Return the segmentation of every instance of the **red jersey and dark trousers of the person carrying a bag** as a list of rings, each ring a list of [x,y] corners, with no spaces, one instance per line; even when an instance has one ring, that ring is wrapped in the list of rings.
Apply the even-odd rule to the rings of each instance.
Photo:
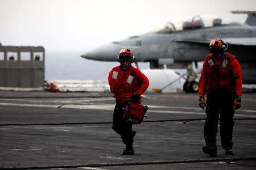
[[[109,86],[113,97],[116,99],[116,105],[113,114],[112,128],[121,135],[123,143],[131,148],[135,131],[132,130],[132,124],[123,121],[124,109],[132,99],[133,94],[141,95],[146,91],[149,81],[139,69],[131,66],[123,71],[120,66],[114,67],[109,72]]]

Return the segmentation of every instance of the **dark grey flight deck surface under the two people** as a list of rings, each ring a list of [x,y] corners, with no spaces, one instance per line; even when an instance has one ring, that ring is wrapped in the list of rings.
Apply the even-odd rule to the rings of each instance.
[[[201,151],[205,113],[197,94],[146,93],[148,118],[122,155],[112,130],[115,100],[106,93],[0,91],[0,169],[255,169],[256,94],[234,116],[234,155]]]

